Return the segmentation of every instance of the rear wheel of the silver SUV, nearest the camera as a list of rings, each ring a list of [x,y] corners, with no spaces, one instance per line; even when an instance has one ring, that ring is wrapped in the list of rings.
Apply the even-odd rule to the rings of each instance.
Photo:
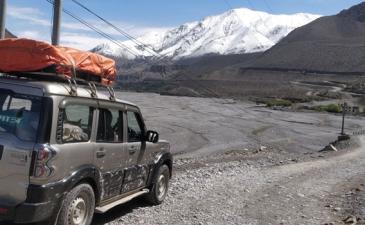
[[[55,225],[90,225],[94,210],[93,188],[89,184],[80,184],[65,196]]]

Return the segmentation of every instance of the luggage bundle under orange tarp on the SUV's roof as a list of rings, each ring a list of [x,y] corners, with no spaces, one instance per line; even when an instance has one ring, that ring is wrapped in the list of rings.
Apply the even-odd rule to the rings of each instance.
[[[92,52],[31,39],[0,40],[0,72],[49,79],[81,79],[106,86],[116,77],[115,61]]]

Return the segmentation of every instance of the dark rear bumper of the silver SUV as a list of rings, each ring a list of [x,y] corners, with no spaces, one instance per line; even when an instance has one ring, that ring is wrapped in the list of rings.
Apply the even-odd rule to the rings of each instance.
[[[0,208],[7,209],[7,213],[0,214],[0,224],[4,222],[12,223],[35,223],[49,219],[56,208],[52,202],[45,203],[23,203],[15,208]]]

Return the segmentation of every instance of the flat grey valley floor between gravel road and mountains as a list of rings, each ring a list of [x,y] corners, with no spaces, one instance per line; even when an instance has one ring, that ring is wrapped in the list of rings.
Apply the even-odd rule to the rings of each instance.
[[[177,158],[261,146],[295,154],[317,152],[340,133],[342,116],[271,110],[252,102],[119,92],[141,107],[147,128],[171,143]],[[348,116],[346,132],[365,129],[365,117]]]

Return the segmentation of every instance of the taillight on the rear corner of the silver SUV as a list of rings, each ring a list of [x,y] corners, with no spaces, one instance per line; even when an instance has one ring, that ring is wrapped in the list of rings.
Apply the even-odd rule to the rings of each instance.
[[[53,168],[48,166],[48,162],[56,155],[56,151],[49,145],[39,145],[35,149],[33,177],[46,178],[52,174]]]

